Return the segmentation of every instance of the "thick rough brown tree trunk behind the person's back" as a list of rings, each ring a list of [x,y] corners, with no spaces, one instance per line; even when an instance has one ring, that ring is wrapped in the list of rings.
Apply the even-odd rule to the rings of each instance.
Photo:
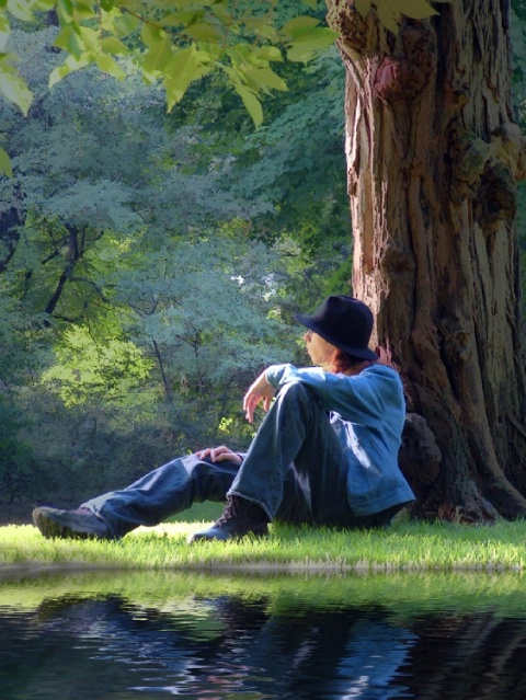
[[[526,377],[510,9],[436,7],[395,36],[374,11],[328,0],[347,73],[354,294],[436,443],[432,462],[425,445],[405,449],[416,513],[514,518],[526,515]]]

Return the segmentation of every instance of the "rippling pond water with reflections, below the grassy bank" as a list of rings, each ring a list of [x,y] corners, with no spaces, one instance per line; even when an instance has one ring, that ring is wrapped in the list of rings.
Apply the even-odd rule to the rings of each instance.
[[[524,700],[522,576],[0,578],[1,700]]]

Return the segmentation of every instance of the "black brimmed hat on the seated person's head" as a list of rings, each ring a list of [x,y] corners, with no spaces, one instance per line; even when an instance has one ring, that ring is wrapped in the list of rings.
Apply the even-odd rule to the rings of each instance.
[[[373,331],[373,312],[363,301],[346,295],[336,295],[328,297],[312,315],[298,313],[295,318],[328,343],[353,357],[378,359],[378,355],[368,347]]]

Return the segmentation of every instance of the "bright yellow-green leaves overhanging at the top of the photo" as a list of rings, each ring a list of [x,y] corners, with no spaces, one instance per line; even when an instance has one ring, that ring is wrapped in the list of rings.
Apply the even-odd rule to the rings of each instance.
[[[302,4],[319,11],[323,3]],[[354,7],[364,15],[375,10],[393,32],[402,14],[436,14],[430,0],[354,0]],[[278,9],[279,0],[266,0],[263,7],[228,0],[0,0],[0,93],[27,114],[32,92],[16,71],[16,55],[5,50],[10,20],[38,24],[43,13],[53,13],[60,27],[55,46],[66,58],[52,71],[49,88],[90,65],[122,80],[122,59],[128,58],[139,65],[147,82],[162,82],[170,112],[192,83],[221,72],[260,126],[263,95],[287,90],[272,65],[285,59],[307,64],[338,36],[316,16],[300,12],[282,23]],[[11,175],[1,148],[0,172]]]

